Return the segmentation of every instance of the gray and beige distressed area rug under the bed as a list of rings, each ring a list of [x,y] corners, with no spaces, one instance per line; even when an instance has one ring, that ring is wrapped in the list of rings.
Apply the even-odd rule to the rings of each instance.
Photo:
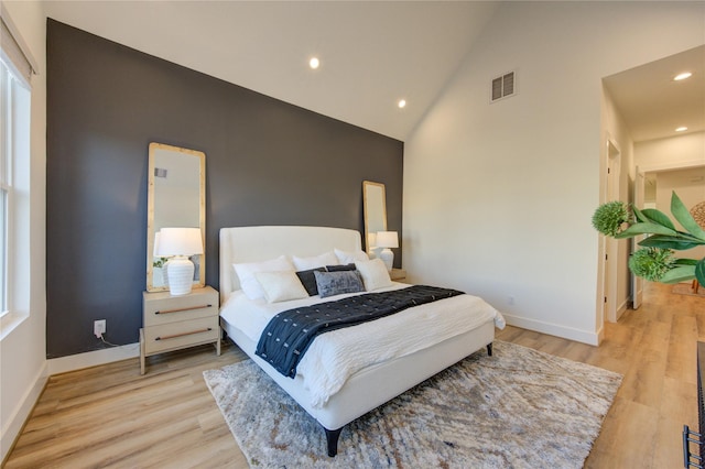
[[[582,468],[621,375],[496,341],[346,425],[321,425],[251,360],[204,372],[254,468]]]

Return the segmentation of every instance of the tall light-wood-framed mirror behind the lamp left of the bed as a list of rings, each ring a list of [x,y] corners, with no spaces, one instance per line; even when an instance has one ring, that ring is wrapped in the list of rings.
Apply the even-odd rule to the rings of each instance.
[[[147,209],[147,290],[169,290],[166,258],[154,257],[162,228],[200,228],[206,238],[206,154],[150,143]],[[193,255],[194,286],[206,284],[206,254]]]

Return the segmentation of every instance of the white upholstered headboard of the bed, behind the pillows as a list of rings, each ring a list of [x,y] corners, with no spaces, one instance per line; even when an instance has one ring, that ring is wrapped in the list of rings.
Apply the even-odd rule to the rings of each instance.
[[[281,254],[312,257],[335,248],[362,249],[359,231],[283,226],[220,228],[220,304],[240,288],[234,263],[265,261]]]

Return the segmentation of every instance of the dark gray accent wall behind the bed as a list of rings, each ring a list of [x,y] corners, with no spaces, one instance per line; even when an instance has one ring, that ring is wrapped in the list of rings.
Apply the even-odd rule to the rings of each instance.
[[[96,319],[107,319],[112,343],[138,341],[150,142],[206,154],[215,287],[220,228],[362,231],[364,179],[386,184],[389,229],[401,231],[403,142],[50,19],[47,358],[104,348]]]

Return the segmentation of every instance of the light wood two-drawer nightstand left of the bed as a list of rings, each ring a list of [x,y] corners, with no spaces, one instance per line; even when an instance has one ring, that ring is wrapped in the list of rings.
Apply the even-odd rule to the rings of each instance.
[[[156,353],[215,342],[220,355],[218,299],[218,292],[210,286],[181,296],[142,293],[140,373],[144,374],[144,359]]]

